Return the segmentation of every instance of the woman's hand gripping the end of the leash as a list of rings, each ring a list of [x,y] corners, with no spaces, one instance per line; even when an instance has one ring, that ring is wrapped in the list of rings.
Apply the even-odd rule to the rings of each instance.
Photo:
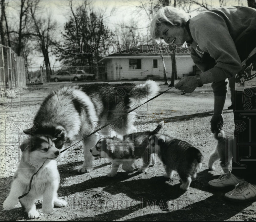
[[[198,86],[196,76],[185,76],[175,84],[175,88],[185,93],[192,93]]]

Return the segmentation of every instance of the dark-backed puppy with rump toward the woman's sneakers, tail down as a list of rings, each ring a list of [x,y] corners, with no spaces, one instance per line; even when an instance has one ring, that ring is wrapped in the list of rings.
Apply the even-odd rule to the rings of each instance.
[[[148,153],[157,153],[165,165],[165,177],[171,178],[176,171],[181,179],[180,188],[188,190],[192,179],[196,178],[197,168],[201,169],[202,153],[189,143],[174,139],[166,134],[157,134],[150,138]]]

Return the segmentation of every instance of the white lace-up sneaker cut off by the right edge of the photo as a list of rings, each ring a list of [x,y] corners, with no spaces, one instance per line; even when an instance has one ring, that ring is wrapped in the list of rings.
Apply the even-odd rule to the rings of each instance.
[[[256,184],[240,182],[234,190],[225,194],[225,198],[231,201],[256,201]]]

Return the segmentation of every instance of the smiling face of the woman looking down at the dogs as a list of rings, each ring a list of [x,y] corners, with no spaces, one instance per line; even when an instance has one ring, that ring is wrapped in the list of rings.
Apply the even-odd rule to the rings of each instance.
[[[188,32],[185,27],[173,26],[161,23],[158,27],[159,38],[163,39],[167,44],[183,44],[185,41],[190,40]]]

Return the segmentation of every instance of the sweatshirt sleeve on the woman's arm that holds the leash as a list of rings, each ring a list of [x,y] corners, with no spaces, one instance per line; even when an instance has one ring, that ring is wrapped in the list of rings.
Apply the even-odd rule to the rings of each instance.
[[[199,48],[208,52],[216,62],[208,70],[215,82],[235,76],[242,69],[235,43],[222,17],[212,13],[199,18],[191,24],[190,31]]]

